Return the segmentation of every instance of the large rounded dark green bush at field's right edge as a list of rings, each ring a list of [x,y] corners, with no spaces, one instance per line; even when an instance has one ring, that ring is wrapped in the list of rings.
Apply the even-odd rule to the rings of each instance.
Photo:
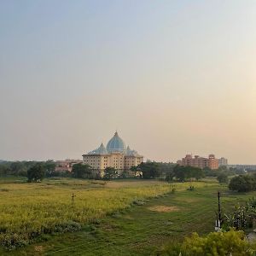
[[[239,175],[232,177],[229,184],[230,190],[235,190],[237,192],[247,192],[255,188],[255,182],[253,177],[249,175]]]

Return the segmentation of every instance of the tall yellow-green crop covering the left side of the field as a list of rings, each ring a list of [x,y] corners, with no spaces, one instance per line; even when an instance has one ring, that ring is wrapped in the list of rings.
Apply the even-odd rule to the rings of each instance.
[[[175,185],[177,191],[188,187],[189,183]],[[168,183],[158,181],[104,183],[60,179],[0,184],[0,242],[11,239],[14,234],[16,239],[28,241],[31,234],[50,233],[56,225],[68,221],[85,224],[108,212],[130,207],[134,200],[165,194],[170,188]]]

